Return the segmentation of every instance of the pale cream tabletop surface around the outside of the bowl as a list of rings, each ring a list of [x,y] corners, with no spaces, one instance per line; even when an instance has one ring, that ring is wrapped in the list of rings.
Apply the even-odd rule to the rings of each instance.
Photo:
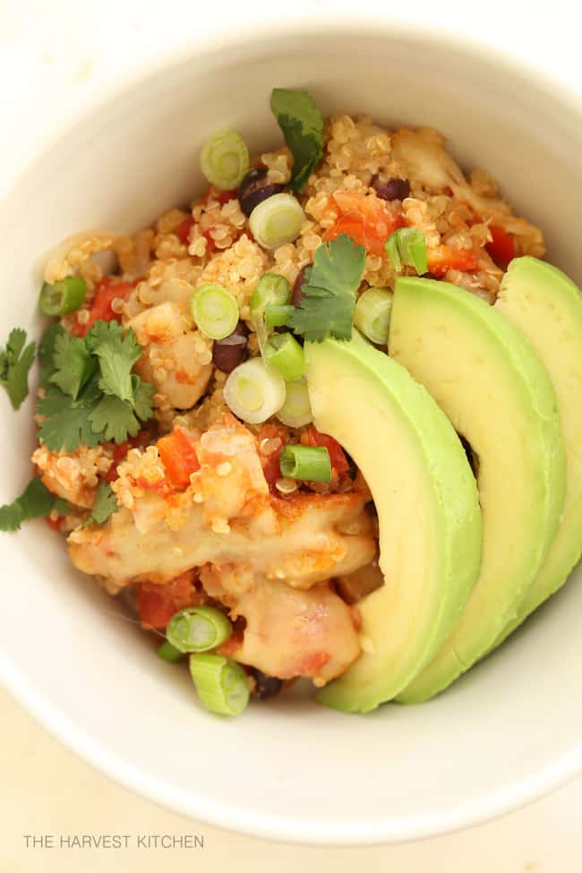
[[[204,4],[207,5],[207,4]],[[441,30],[460,30],[492,47],[512,50],[567,83],[582,81],[578,29],[564,3],[532,11],[529,4],[359,2],[358,13],[390,13],[422,20]],[[344,0],[297,0],[285,10],[274,4],[50,3],[0,0],[0,193],[26,167],[39,142],[50,141],[75,114],[98,101],[125,76],[170,57],[218,28],[245,26],[268,15],[354,14]],[[396,11],[398,10],[398,12]],[[580,85],[582,88],[582,85]],[[13,871],[160,869],[279,870],[370,869],[398,873],[578,873],[582,869],[582,781],[529,809],[457,834],[415,845],[368,850],[325,850],[261,843],[187,822],[147,801],[133,798],[47,737],[12,700],[0,693],[3,783],[0,870]],[[532,726],[535,730],[535,725]],[[107,852],[26,850],[23,834],[202,834],[205,849]]]

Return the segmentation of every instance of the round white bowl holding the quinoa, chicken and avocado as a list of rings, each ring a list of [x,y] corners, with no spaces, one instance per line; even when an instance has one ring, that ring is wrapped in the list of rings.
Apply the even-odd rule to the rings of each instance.
[[[491,50],[353,22],[297,25],[196,47],[82,117],[0,205],[0,337],[39,330],[43,256],[87,227],[129,230],[201,190],[205,136],[235,127],[279,141],[273,86],[308,88],[326,112],[428,124],[483,166],[543,227],[551,261],[580,280],[582,107]],[[0,502],[30,475],[30,399],[4,392]],[[432,703],[339,715],[302,698],[214,717],[185,672],[42,523],[2,535],[0,675],[47,728],[107,775],[192,817],[304,843],[416,839],[499,815],[582,766],[582,587],[572,583],[501,651]]]

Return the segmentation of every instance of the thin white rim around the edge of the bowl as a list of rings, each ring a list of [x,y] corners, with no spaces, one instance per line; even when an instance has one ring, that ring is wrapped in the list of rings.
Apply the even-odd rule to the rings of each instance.
[[[460,34],[445,30],[444,27],[426,27],[422,23],[398,21],[389,15],[378,18],[377,14],[362,14],[358,17],[345,13],[334,13],[333,21],[327,12],[314,11],[309,19],[297,20],[289,16],[278,19],[278,26],[284,30],[286,39],[296,39],[308,34],[378,37],[382,33],[393,39],[424,40],[439,44],[443,48],[465,53],[466,56],[479,56],[493,67],[509,74],[517,74],[530,81],[540,90],[545,90],[569,108],[575,115],[582,116],[582,89],[575,84],[563,81],[551,69],[540,68],[530,59],[513,54],[507,48],[492,46],[491,42],[475,35]],[[74,118],[67,118],[56,126],[46,141],[41,141],[36,157],[31,158],[15,175],[14,182],[5,193],[6,197],[18,188],[21,181],[37,165],[42,154],[55,147],[63,137],[82,123],[87,116],[97,113],[102,107],[115,100],[119,94],[131,91],[140,81],[152,78],[160,71],[177,68],[193,56],[203,58],[218,51],[241,49],[272,39],[272,22],[269,19],[257,23],[252,21],[229,32],[212,32],[203,36],[203,42],[190,39],[177,51],[160,51],[153,59],[143,57],[132,64],[131,69],[116,81],[107,84],[97,98],[91,99]],[[74,754],[90,763],[98,771],[107,775],[124,788],[140,794],[176,813],[191,817],[202,823],[218,826],[241,834],[250,834],[268,840],[304,843],[312,845],[349,846],[376,845],[382,843],[405,843],[475,826],[486,820],[500,817],[514,809],[541,798],[562,784],[582,773],[582,743],[551,760],[535,773],[500,789],[475,797],[447,812],[426,812],[422,815],[398,818],[374,819],[368,823],[346,824],[335,822],[332,818],[317,821],[289,819],[281,816],[249,813],[242,806],[216,803],[195,797],[178,790],[171,783],[148,774],[137,766],[128,764],[106,746],[94,740],[86,731],[78,727],[45,698],[41,689],[26,680],[12,659],[0,650],[0,681],[24,709],[40,723],[47,732],[56,737]]]

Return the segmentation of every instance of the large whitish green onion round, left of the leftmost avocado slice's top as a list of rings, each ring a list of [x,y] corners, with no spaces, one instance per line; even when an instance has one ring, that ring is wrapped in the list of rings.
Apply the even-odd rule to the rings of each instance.
[[[239,364],[228,376],[224,398],[234,414],[247,424],[261,424],[285,402],[285,381],[260,357]]]

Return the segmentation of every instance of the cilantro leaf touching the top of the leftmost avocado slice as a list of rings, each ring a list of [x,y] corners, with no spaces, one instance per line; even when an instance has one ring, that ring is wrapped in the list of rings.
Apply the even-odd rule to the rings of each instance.
[[[305,274],[304,298],[287,324],[312,342],[328,334],[336,339],[352,336],[355,292],[364,273],[365,249],[346,234],[315,251],[313,266]]]

